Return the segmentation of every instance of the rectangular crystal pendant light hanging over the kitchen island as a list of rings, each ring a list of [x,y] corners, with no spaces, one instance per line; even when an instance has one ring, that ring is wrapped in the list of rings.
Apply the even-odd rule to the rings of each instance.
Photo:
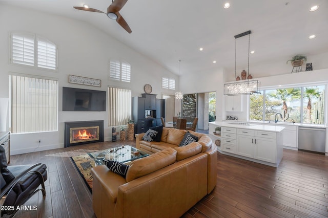
[[[252,95],[260,94],[260,81],[249,80],[250,75],[250,35],[251,31],[243,32],[235,35],[235,81],[224,83],[224,95]],[[248,74],[247,81],[236,81],[236,67],[237,67],[237,38],[248,35]]]

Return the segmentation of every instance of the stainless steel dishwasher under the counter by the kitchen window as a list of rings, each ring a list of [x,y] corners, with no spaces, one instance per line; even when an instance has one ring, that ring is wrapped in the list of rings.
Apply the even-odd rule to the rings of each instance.
[[[298,127],[298,149],[323,153],[326,147],[326,129]]]

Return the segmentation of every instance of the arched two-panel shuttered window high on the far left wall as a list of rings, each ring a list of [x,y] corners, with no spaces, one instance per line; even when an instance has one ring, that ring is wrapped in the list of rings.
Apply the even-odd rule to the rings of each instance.
[[[13,33],[11,34],[11,63],[55,70],[57,69],[56,45],[34,34]]]

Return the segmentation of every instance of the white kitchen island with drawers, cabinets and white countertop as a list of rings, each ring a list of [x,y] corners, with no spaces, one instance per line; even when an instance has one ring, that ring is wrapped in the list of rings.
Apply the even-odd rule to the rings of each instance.
[[[221,133],[215,132],[221,127]],[[277,167],[282,159],[283,126],[210,122],[209,136],[225,155]]]

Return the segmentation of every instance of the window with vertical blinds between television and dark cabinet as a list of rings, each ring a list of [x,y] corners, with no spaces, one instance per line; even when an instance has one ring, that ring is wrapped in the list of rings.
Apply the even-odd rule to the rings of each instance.
[[[131,119],[131,90],[108,88],[108,126],[126,125]]]

